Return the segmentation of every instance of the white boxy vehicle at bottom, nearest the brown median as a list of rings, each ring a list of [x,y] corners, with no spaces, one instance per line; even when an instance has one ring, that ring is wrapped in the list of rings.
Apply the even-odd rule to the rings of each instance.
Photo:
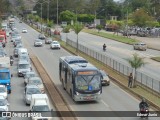
[[[42,114],[36,114],[36,116],[32,116],[32,120],[39,120],[39,119],[45,119],[45,120],[53,120],[53,117],[51,115],[44,116],[46,114],[43,114],[43,112],[51,112],[51,106],[49,103],[49,98],[47,94],[32,94],[31,96],[31,104],[30,104],[30,112],[32,113],[38,113],[41,112]]]

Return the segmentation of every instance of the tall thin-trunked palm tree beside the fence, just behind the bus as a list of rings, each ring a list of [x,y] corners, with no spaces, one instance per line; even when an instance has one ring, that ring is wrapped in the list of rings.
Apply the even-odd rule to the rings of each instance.
[[[74,32],[77,34],[77,54],[78,54],[78,34],[84,28],[84,25],[80,24],[79,22],[76,22],[72,26],[72,28],[73,28]]]

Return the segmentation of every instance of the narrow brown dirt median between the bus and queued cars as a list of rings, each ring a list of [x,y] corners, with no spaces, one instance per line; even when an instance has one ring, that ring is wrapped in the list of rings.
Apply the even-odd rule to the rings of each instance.
[[[54,85],[52,79],[46,72],[45,68],[43,67],[39,59],[36,56],[32,55],[31,60],[40,77],[42,78],[44,86],[46,87],[52,100],[52,103],[54,104],[56,110],[59,112],[62,120],[76,120],[74,113],[70,110],[69,106],[67,106],[66,102],[64,101],[63,97],[59,93],[58,89]],[[67,116],[71,117],[64,117],[66,116],[64,111],[67,111]]]

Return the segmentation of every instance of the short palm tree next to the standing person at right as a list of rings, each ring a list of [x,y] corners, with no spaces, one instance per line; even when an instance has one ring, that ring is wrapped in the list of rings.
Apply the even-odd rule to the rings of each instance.
[[[144,62],[144,58],[141,58],[138,56],[138,54],[133,54],[133,57],[126,59],[128,63],[133,68],[134,79],[133,79],[133,87],[136,87],[136,75],[137,75],[137,69],[141,68],[146,63]]]

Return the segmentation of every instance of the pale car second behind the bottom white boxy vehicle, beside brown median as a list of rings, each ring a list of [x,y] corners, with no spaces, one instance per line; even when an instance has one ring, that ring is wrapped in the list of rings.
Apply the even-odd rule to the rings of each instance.
[[[27,85],[37,85],[41,92],[44,93],[44,86],[40,77],[30,77]]]

